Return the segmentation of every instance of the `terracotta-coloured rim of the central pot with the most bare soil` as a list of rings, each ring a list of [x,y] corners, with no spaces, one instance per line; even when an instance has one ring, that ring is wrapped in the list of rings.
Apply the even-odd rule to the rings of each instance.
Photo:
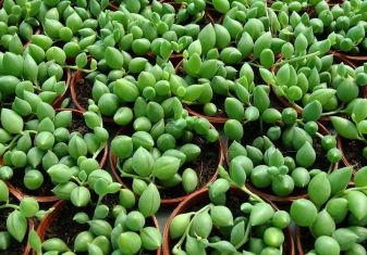
[[[119,136],[119,133],[121,133],[121,130],[117,133],[117,136]],[[220,139],[217,142],[217,148],[219,150],[219,152],[218,152],[218,167],[219,167],[224,162],[224,148],[223,148],[223,144],[220,141]],[[131,189],[131,187],[127,186],[126,182],[124,182],[123,178],[119,175],[119,170],[118,170],[118,168],[115,166],[117,165],[117,156],[112,153],[112,150],[110,150],[110,153],[109,153],[109,162],[110,162],[111,173],[112,173],[113,177],[115,178],[115,180],[118,182],[120,182],[123,188]],[[203,187],[198,188],[197,190],[204,189],[205,187],[207,187],[208,184],[210,184],[211,182],[213,182],[217,179],[217,177],[218,177],[218,167],[217,167],[216,173],[208,180],[208,182],[206,184],[204,184]],[[192,193],[189,193],[189,194],[192,194]],[[178,196],[178,197],[172,197],[172,199],[162,199],[161,200],[161,205],[162,206],[176,205],[181,201],[183,201],[185,197],[187,197],[189,194]]]

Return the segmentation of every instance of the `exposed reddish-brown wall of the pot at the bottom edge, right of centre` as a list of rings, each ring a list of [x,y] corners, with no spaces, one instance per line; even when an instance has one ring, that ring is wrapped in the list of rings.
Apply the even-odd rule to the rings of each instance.
[[[246,202],[248,200],[248,195],[244,193],[242,190],[237,188],[231,188],[230,196],[237,196],[243,197],[243,202]],[[261,196],[261,194],[260,194]],[[267,203],[269,203],[276,211],[278,211],[278,207],[272,204],[270,201],[268,201],[266,197],[264,199]],[[170,239],[170,226],[173,220],[173,218],[180,214],[183,214],[185,212],[188,212],[191,208],[195,206],[206,205],[209,203],[209,190],[208,188],[204,188],[201,190],[195,191],[194,193],[189,194],[182,203],[179,204],[179,206],[172,212],[170,218],[168,219],[164,231],[163,231],[163,255],[171,255],[171,248],[172,243]],[[291,227],[288,227],[283,230],[285,234],[285,243],[283,245],[283,254],[288,255],[294,255],[295,254],[295,247],[294,247],[294,241],[292,238],[292,229]]]

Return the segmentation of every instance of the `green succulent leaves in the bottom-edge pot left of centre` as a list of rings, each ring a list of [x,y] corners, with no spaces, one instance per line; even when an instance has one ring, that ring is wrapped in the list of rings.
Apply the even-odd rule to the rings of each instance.
[[[107,176],[106,176],[107,177]],[[109,177],[110,178],[110,177]],[[119,183],[110,182],[102,184],[99,179],[95,184],[95,194],[98,200],[91,201],[88,205],[91,214],[84,211],[75,213],[73,225],[86,225],[88,230],[78,232],[70,240],[62,240],[58,237],[40,242],[35,233],[29,234],[29,243],[37,254],[126,254],[133,255],[139,252],[156,251],[161,245],[161,234],[149,221],[151,216],[150,204],[140,200],[136,202],[134,194],[130,190],[120,189]],[[107,183],[107,182],[106,182]],[[151,192],[151,188],[147,188]],[[152,191],[154,192],[154,191]],[[118,204],[113,207],[105,204],[113,196],[119,197]],[[95,196],[94,196],[95,197]],[[137,205],[138,203],[138,209]],[[154,212],[152,212],[154,213]]]

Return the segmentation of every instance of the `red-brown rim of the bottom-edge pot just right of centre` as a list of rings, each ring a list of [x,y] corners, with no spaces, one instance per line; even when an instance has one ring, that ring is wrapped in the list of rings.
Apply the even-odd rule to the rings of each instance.
[[[247,196],[243,191],[241,191],[237,188],[231,188],[231,191],[238,193],[240,192],[242,194],[244,194],[245,196]],[[179,215],[182,214],[184,212],[186,212],[189,207],[192,207],[193,205],[197,204],[198,201],[203,201],[203,200],[209,200],[208,197],[208,188],[205,187],[204,189],[197,190],[194,193],[187,195],[187,197],[182,201],[178,207],[175,207],[175,209],[172,212],[172,214],[170,215],[169,219],[167,220],[167,224],[164,226],[164,230],[163,230],[163,247],[162,247],[162,252],[163,255],[171,255],[171,251],[170,251],[170,226],[171,222],[173,220],[173,218]],[[261,195],[260,195],[261,196]],[[269,203],[274,209],[279,211],[279,208],[271,203],[271,201],[267,200],[267,197],[261,197],[264,199],[267,203]],[[288,250],[289,250],[289,255],[295,255],[295,245],[294,245],[294,240],[292,237],[292,230],[290,227],[288,227],[285,230],[285,243],[288,244]],[[288,242],[286,242],[288,241]]]

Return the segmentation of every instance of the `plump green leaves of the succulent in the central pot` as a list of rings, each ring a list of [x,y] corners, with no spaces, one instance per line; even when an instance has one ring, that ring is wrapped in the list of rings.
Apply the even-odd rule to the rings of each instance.
[[[163,189],[181,184],[186,193],[199,188],[197,169],[189,167],[201,154],[199,145],[203,142],[197,144],[197,139],[205,143],[215,143],[219,139],[219,132],[206,118],[187,116],[179,100],[172,98],[171,101],[168,111],[161,112],[150,111],[154,109],[151,102],[143,104],[146,116],[135,119],[132,135],[117,136],[111,142],[111,152],[118,157],[117,168],[122,178],[133,178],[132,189],[137,195],[150,182]],[[175,103],[180,106],[175,107]],[[174,113],[176,109],[183,112],[179,117],[174,117],[179,113]],[[149,120],[154,120],[154,125]]]

